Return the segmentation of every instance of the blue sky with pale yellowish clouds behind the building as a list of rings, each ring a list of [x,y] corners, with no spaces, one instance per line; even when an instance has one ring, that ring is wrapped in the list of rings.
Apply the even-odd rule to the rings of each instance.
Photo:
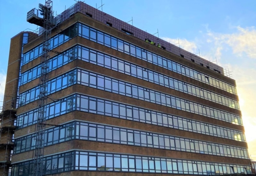
[[[101,6],[101,0],[85,0]],[[0,106],[10,38],[35,30],[27,12],[44,0],[0,0]],[[53,0],[60,14],[76,2]],[[226,68],[236,80],[249,154],[256,160],[256,1],[255,0],[102,0],[103,11]],[[131,22],[129,22],[131,24]],[[156,34],[157,35],[157,34]],[[199,54],[198,54],[199,55]]]

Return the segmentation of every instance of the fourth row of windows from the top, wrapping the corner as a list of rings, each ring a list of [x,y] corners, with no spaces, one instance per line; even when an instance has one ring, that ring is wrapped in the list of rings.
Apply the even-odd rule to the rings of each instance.
[[[77,95],[77,96],[80,97],[80,95]],[[65,99],[65,100],[70,101],[70,98]],[[47,113],[47,116],[46,116],[47,119],[56,117],[56,116],[60,115],[60,113],[64,114],[64,113],[67,113],[68,111],[73,110],[73,106],[70,106],[70,103],[66,103],[63,100],[60,100],[60,101],[62,102],[61,106],[60,106],[60,102],[54,102],[53,104],[49,104],[50,110],[47,110],[47,111],[50,114]],[[142,112],[141,110],[140,110],[140,113],[138,113],[138,108],[136,108],[136,107],[129,106],[129,108],[128,108],[127,106],[122,105],[122,104],[114,105],[112,102],[109,102],[109,101],[105,102],[104,100],[101,100],[98,98],[90,98],[88,96],[81,96],[81,98],[78,98],[77,101],[78,101],[77,105],[76,105],[77,110],[81,110],[81,111],[97,113],[97,114],[102,114],[102,115],[105,114],[108,116],[118,117],[118,118],[127,118],[127,119],[134,120],[134,121],[138,121],[138,120],[144,121],[145,116],[146,116],[146,123],[154,123],[154,124],[160,125],[160,126],[167,125],[168,127],[171,127],[171,128],[177,128],[177,129],[182,129],[182,130],[186,130],[186,131],[191,131],[192,129],[194,129],[194,132],[203,133],[203,134],[205,133],[206,127],[209,126],[209,129],[208,128],[207,129],[210,131],[210,133],[207,132],[208,133],[207,135],[218,136],[218,137],[222,137],[222,138],[226,138],[226,139],[234,140],[234,135],[228,135],[230,133],[230,131],[232,131],[232,133],[235,132],[236,134],[242,135],[242,133],[240,131],[234,131],[234,130],[223,129],[223,128],[221,128],[222,131],[226,130],[229,133],[224,133],[224,134],[223,133],[222,134],[215,133],[212,131],[212,125],[208,125],[208,124],[202,123],[202,122],[189,121],[189,124],[186,125],[187,120],[184,118],[180,118],[180,117],[179,117],[179,124],[178,124],[178,121],[177,121],[178,117],[175,117],[175,116],[168,117],[168,123],[169,123],[169,125],[168,125],[167,119],[165,120],[165,118],[164,118],[164,117],[167,117],[167,114],[156,113],[154,111],[148,111],[148,110],[144,110],[144,109],[141,109],[143,111],[143,113],[141,113]],[[90,105],[89,106],[90,110],[88,110],[88,101],[89,101],[89,105]],[[177,103],[176,101],[173,102],[173,104],[178,104],[180,106],[180,104]],[[55,106],[55,108],[54,108],[54,106]],[[119,108],[119,106],[120,106],[120,108]],[[70,108],[71,108],[71,110],[70,110]],[[62,111],[60,111],[60,109]],[[119,113],[119,109],[120,109],[120,113]],[[113,112],[112,112],[112,110],[113,110]],[[147,111],[147,112],[145,113],[145,111]],[[35,110],[32,112],[36,113]],[[29,112],[29,114],[30,113],[31,112]],[[36,123],[36,119],[32,119],[32,117],[33,117],[32,114],[29,115],[29,118],[28,118],[28,115],[26,115],[26,114],[27,113],[24,113],[24,114],[18,116],[19,128]],[[30,116],[31,116],[31,118],[30,118]],[[165,124],[163,124],[163,122],[165,122]],[[173,126],[173,124],[175,125],[175,127]],[[191,127],[192,124],[198,124],[198,129],[196,128],[196,125],[195,125],[195,127],[192,128]],[[200,126],[202,127],[202,129]],[[213,126],[213,127],[214,127],[215,131],[216,131],[216,128],[218,128],[218,129],[220,128],[217,126]],[[239,139],[235,139],[235,140],[241,141],[244,139],[239,138]],[[246,157],[247,157],[247,153],[246,153]]]

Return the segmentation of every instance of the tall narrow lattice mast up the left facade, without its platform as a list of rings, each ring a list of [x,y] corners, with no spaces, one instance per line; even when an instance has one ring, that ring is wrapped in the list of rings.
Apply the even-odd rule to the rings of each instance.
[[[36,125],[36,149],[34,156],[34,176],[42,176],[44,159],[44,134],[46,121],[48,61],[50,59],[50,37],[52,28],[52,1],[48,0],[42,6],[44,33],[41,58],[40,93],[38,100],[38,121]]]

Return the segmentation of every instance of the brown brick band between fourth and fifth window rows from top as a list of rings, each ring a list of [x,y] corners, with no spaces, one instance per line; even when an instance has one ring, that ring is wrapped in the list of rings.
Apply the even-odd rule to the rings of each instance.
[[[247,144],[244,142],[240,142],[240,141],[234,141],[234,140],[230,140],[230,139],[224,139],[224,138],[220,138],[220,137],[203,135],[200,133],[193,133],[190,131],[183,131],[183,130],[179,130],[179,129],[151,125],[148,123],[140,123],[140,122],[136,122],[136,121],[119,119],[119,118],[114,118],[114,117],[109,117],[109,116],[104,116],[104,115],[96,115],[93,113],[86,113],[86,112],[82,112],[82,111],[73,111],[73,112],[70,112],[70,113],[67,113],[64,115],[60,115],[58,117],[47,120],[46,123],[58,125],[58,124],[62,124],[62,123],[68,122],[68,121],[72,121],[72,120],[82,120],[82,121],[89,121],[89,122],[91,121],[94,123],[114,125],[114,126],[118,126],[118,127],[132,128],[132,129],[137,129],[137,130],[142,130],[142,131],[151,131],[153,133],[162,133],[162,134],[173,135],[173,136],[177,136],[177,137],[184,137],[184,138],[196,139],[196,140],[200,140],[200,141],[209,141],[209,142],[213,142],[213,143],[220,143],[220,144],[225,144],[225,145],[232,145],[232,146],[247,148]],[[33,132],[35,132],[34,130],[35,130],[35,125],[31,125],[31,126],[19,129],[15,133],[15,138],[19,138],[24,135],[33,133]]]

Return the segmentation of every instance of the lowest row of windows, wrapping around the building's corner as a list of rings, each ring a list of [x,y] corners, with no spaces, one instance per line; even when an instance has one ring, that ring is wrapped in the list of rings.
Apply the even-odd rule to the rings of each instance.
[[[65,164],[63,164],[63,158]],[[58,159],[57,159],[58,158]],[[76,158],[76,162],[73,162]],[[113,160],[114,158],[114,160]],[[106,160],[106,162],[105,162]],[[57,164],[58,161],[58,164]],[[234,172],[251,173],[250,166],[209,163],[171,158],[154,158],[120,154],[105,154],[74,151],[44,158],[46,170],[43,174],[61,173],[67,170],[97,170],[123,172],[162,172],[173,174],[230,174]],[[89,163],[89,167],[88,164]],[[12,176],[28,176],[33,173],[33,160],[13,164]],[[29,168],[23,170],[23,168]],[[227,169],[228,168],[228,169]]]

